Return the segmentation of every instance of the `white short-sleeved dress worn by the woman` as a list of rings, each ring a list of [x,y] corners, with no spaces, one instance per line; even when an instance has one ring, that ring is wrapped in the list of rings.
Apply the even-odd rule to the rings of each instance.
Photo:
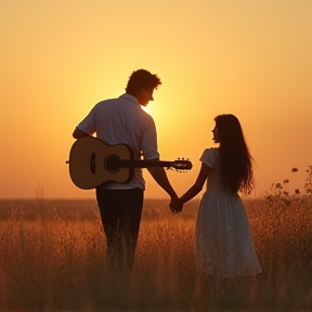
[[[205,150],[200,161],[213,170],[197,212],[196,269],[202,275],[221,277],[260,273],[244,204],[238,194],[222,190],[219,150]]]

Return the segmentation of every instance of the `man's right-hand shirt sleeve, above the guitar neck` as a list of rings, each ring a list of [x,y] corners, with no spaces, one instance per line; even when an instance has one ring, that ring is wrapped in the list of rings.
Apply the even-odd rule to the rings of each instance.
[[[153,118],[151,118],[147,122],[146,129],[142,138],[141,148],[144,159],[159,158],[157,146],[157,132]]]

